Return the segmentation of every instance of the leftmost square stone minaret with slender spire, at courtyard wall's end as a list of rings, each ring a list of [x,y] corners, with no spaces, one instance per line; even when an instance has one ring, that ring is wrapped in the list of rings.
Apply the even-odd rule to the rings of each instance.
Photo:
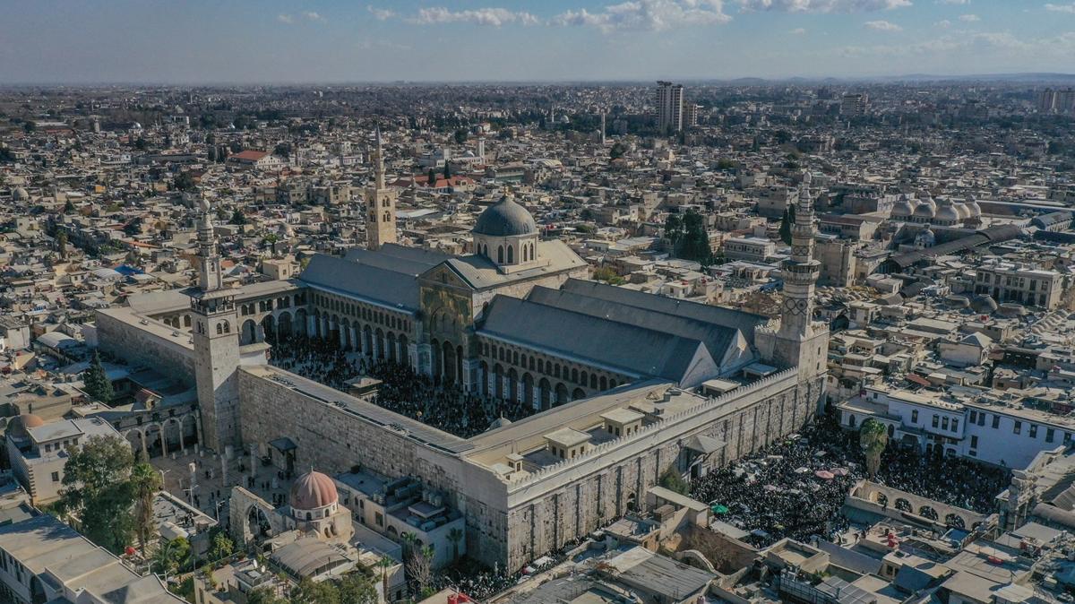
[[[194,312],[195,383],[201,411],[202,442],[217,452],[239,443],[239,317],[235,298],[223,289],[220,257],[209,202],[200,203],[198,263],[200,287],[190,297]]]

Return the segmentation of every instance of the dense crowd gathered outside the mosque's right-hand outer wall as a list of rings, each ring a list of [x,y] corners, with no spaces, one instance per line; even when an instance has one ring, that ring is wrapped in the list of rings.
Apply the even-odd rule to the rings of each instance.
[[[756,545],[812,535],[838,541],[849,527],[840,512],[844,499],[863,477],[857,435],[823,416],[801,434],[694,480],[691,497],[711,503],[717,519],[749,532],[745,540]],[[927,458],[890,443],[873,480],[988,513],[1008,475],[961,459]]]

